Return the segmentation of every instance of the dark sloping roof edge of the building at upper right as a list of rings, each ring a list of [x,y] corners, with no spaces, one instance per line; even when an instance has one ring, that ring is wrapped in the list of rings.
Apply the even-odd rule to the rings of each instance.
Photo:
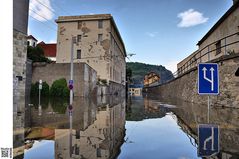
[[[220,25],[227,17],[231,15],[239,7],[239,1],[235,2],[232,7],[216,22],[216,24],[207,32],[207,34],[197,43],[201,45]]]

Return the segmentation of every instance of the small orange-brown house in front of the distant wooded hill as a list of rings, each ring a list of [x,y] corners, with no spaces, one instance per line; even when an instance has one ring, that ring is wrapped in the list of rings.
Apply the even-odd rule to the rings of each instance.
[[[160,84],[160,76],[155,72],[150,72],[144,76],[144,86],[156,86]]]

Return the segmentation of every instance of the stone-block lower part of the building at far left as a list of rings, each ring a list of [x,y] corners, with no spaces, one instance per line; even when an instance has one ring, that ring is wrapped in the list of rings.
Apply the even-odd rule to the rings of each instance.
[[[26,35],[13,30],[13,156],[24,152]]]

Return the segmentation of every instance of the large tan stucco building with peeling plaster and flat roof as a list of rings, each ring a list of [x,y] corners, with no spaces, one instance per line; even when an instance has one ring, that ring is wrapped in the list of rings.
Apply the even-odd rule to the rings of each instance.
[[[56,63],[69,63],[72,37],[74,62],[85,62],[99,79],[125,84],[126,50],[110,14],[60,16],[56,20]]]

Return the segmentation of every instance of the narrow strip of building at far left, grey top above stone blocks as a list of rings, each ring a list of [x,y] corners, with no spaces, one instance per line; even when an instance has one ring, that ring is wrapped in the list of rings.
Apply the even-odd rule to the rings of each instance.
[[[13,0],[13,157],[24,153],[29,0]]]

